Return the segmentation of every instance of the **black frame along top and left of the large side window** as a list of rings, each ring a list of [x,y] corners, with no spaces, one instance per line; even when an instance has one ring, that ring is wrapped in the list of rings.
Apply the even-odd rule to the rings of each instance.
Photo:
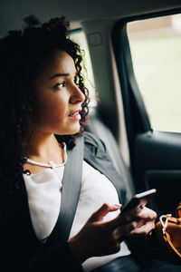
[[[141,21],[180,13],[181,8],[176,8],[147,15],[129,16],[121,18],[113,27],[112,44],[119,73],[130,155],[133,152],[134,142],[138,133],[153,131],[153,129],[151,128],[148,112],[133,70],[127,24],[138,20]]]

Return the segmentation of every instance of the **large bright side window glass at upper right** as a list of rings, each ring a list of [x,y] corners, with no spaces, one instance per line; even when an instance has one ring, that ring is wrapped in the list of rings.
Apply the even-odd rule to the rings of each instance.
[[[152,128],[181,132],[181,15],[131,22],[127,30]]]

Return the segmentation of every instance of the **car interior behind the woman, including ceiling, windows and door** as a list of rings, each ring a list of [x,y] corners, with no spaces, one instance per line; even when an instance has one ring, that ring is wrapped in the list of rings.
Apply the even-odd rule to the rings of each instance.
[[[181,2],[6,0],[0,5],[0,36],[62,15],[71,22],[71,38],[85,54],[86,130],[104,141],[128,199],[155,188],[150,207],[158,215],[174,215],[181,200]]]

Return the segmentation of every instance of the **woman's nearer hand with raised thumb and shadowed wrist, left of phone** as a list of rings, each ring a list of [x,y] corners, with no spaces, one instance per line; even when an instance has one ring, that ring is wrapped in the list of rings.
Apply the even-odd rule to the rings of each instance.
[[[82,263],[89,257],[105,256],[119,251],[119,242],[112,234],[112,230],[116,228],[113,228],[115,219],[103,222],[103,218],[120,207],[121,205],[103,204],[91,215],[81,231],[68,241],[71,252],[78,261]]]

